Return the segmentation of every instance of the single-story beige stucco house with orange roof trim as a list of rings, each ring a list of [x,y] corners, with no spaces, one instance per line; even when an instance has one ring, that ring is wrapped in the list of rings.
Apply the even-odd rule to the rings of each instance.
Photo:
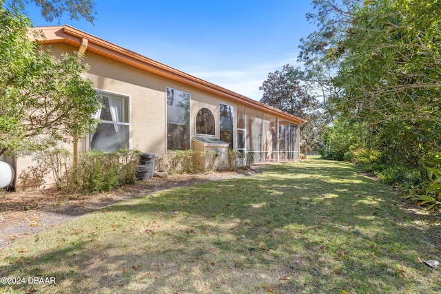
[[[299,126],[305,120],[158,63],[69,25],[36,28],[54,54],[85,54],[87,78],[105,107],[95,134],[68,148],[78,155],[91,149],[125,146],[163,156],[168,151],[207,148],[252,154],[254,162],[296,160]],[[14,158],[15,174],[36,165]],[[48,175],[45,187],[54,181]],[[16,189],[26,189],[18,176]]]

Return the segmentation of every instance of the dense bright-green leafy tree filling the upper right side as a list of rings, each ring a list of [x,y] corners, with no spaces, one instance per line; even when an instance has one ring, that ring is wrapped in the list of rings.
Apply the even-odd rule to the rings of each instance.
[[[366,1],[353,11],[334,83],[342,114],[365,120],[384,162],[422,166],[441,152],[439,1]]]

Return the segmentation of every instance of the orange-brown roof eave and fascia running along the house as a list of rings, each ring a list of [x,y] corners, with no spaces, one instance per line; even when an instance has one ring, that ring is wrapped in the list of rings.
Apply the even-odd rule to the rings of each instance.
[[[300,125],[306,123],[306,120],[302,118],[298,118],[297,116],[287,114],[286,112],[282,112],[274,107],[254,101],[251,98],[237,94],[236,92],[232,92],[218,85],[214,85],[202,80],[201,78],[196,78],[196,76],[192,76],[191,74],[176,70],[173,67],[164,65],[163,63],[149,59],[141,54],[122,48],[119,45],[115,45],[96,36],[73,28],[70,25],[37,27],[34,28],[34,30],[44,34],[45,38],[38,40],[42,44],[64,43],[72,45],[79,48],[79,52],[90,52],[104,56],[107,59],[119,61],[141,70],[145,70],[146,72],[152,72],[158,76],[170,78],[173,81],[196,87],[197,89],[205,92],[216,94],[220,97],[226,98],[229,101],[233,101],[246,107],[277,116],[278,118],[289,120],[292,123],[298,123]]]

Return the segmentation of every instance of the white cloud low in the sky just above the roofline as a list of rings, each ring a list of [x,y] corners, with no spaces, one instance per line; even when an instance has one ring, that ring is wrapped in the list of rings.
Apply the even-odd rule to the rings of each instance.
[[[272,63],[250,65],[243,70],[200,71],[189,72],[189,74],[256,101],[260,101],[263,92],[259,90],[259,87],[263,81],[267,79],[268,74],[276,70],[281,70],[283,65],[288,63],[298,66],[296,59],[291,58]]]

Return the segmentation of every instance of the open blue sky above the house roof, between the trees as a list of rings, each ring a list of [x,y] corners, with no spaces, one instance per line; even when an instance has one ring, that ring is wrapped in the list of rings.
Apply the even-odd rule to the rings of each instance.
[[[297,65],[300,38],[315,30],[310,0],[94,1],[94,25],[26,9],[35,26],[72,25],[257,101],[268,73]]]

